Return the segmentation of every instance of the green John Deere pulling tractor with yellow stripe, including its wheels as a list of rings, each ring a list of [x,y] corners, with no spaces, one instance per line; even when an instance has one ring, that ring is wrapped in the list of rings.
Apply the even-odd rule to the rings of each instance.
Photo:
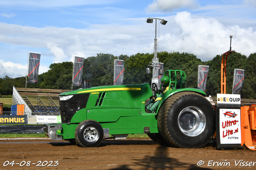
[[[101,86],[60,94],[62,123],[44,125],[52,140],[67,140],[81,147],[97,147],[110,135],[125,139],[128,134],[147,133],[157,143],[171,147],[198,148],[215,132],[215,111],[205,92],[185,88],[182,70],[166,70],[169,88],[158,107],[146,109],[156,84]]]

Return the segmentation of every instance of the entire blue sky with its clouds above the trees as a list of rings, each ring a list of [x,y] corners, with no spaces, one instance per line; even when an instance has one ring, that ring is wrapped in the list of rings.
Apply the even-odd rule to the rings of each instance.
[[[255,0],[0,0],[0,78],[26,75],[28,52],[41,53],[39,73],[52,63],[97,53],[193,53],[202,61],[232,48],[256,52]]]

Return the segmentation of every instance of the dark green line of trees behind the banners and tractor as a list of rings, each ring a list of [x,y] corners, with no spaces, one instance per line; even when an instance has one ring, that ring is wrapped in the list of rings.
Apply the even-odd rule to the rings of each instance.
[[[114,79],[114,60],[124,60],[124,82],[123,84],[143,84],[150,83],[152,75],[146,74],[146,67],[150,65],[154,54],[137,53],[135,55],[97,54],[96,57],[84,59],[83,77],[89,79],[91,87],[113,85]],[[201,61],[195,55],[190,53],[167,52],[158,53],[160,63],[164,63],[164,70],[183,70],[186,73],[186,87],[197,88],[198,65],[210,66],[206,94],[216,96],[220,93],[220,75],[222,55],[216,55],[210,61]],[[256,98],[256,53],[248,57],[241,53],[232,53],[228,56],[226,62],[226,93],[232,94],[232,83],[234,69],[245,70],[244,83],[241,98]],[[72,84],[72,62],[53,63],[48,72],[38,75],[38,83],[27,84],[27,88],[44,89],[65,89],[71,90]],[[152,69],[152,68],[151,68]],[[12,86],[25,88],[26,76],[10,78],[7,75],[0,78],[0,94],[12,95]],[[73,86],[73,90],[81,86]]]

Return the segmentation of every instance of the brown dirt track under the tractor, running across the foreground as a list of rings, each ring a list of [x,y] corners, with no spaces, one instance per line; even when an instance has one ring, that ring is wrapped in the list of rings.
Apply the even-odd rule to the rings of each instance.
[[[216,150],[215,144],[201,149],[162,147],[149,138],[104,140],[99,147],[81,148],[67,141],[50,139],[0,140],[0,169],[255,169],[242,166],[256,162],[256,152],[248,149]],[[197,164],[202,163],[202,166]],[[212,162],[209,161],[213,160]],[[237,166],[235,165],[235,160]],[[14,161],[14,165],[7,165]],[[23,162],[22,162],[23,161]],[[26,166],[28,161],[30,166]],[[40,165],[36,166],[42,161]],[[47,161],[47,162],[44,162]],[[52,162],[52,166],[50,165]],[[54,161],[58,161],[58,166]],[[199,162],[199,163],[198,163]],[[214,162],[224,162],[217,166]],[[229,164],[230,166],[229,166]],[[5,165],[7,166],[4,166]],[[20,166],[21,163],[24,166]],[[34,164],[32,164],[34,163]],[[208,166],[211,165],[211,166]],[[228,164],[227,166],[224,166]],[[246,165],[246,163],[244,163]]]

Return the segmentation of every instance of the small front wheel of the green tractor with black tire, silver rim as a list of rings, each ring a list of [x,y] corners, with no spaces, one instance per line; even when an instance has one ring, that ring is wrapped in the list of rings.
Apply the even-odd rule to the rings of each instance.
[[[81,147],[98,147],[103,140],[104,131],[100,123],[85,120],[76,127],[75,138]]]

